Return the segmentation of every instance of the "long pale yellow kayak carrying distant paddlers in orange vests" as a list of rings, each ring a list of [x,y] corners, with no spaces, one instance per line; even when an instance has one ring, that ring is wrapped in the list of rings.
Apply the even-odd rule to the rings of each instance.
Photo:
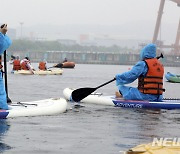
[[[53,70],[36,70],[33,71],[34,74],[32,74],[29,70],[18,70],[18,71],[12,71],[13,74],[23,74],[23,75],[62,75],[63,70],[62,69],[53,69]]]

